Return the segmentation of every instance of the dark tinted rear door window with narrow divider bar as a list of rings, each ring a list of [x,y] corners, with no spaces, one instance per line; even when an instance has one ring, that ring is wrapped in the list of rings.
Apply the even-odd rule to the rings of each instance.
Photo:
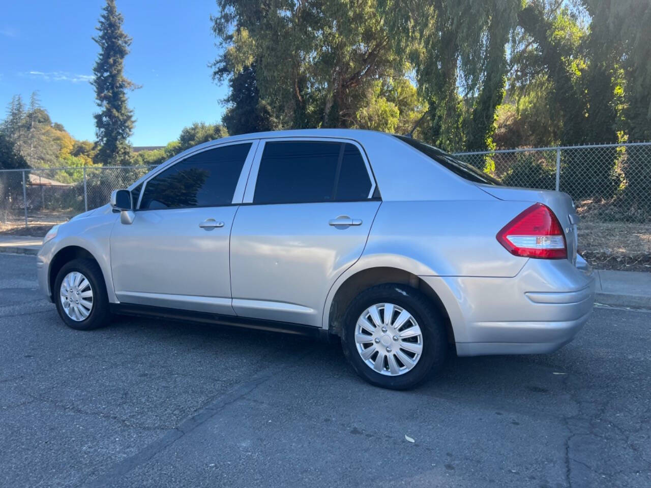
[[[266,142],[253,203],[366,200],[372,182],[359,150],[348,142]]]

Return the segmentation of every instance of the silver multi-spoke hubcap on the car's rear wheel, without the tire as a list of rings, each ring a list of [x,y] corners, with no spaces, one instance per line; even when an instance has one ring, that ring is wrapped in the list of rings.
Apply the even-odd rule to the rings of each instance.
[[[402,375],[421,359],[421,327],[404,308],[378,303],[357,319],[355,344],[372,370],[387,376]]]

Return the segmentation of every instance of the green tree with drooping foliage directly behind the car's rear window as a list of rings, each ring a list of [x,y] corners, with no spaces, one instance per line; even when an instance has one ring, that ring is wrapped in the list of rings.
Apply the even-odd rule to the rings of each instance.
[[[447,150],[491,147],[521,0],[382,0],[380,8],[428,105],[424,138]]]

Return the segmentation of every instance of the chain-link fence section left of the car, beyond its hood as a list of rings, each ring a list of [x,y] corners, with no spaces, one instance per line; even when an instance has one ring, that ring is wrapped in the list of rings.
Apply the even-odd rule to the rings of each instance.
[[[153,166],[68,167],[0,170],[0,231],[43,227],[68,220],[109,201]]]

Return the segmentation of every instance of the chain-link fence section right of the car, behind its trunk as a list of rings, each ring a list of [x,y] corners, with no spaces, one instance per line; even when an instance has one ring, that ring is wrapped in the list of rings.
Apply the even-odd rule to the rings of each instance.
[[[568,193],[581,217],[583,252],[651,267],[651,142],[455,156],[506,185]]]

